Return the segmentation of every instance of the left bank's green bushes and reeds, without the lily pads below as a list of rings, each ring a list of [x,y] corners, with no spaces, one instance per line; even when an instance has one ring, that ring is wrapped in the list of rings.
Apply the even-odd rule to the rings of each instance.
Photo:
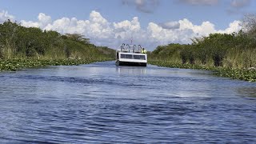
[[[10,20],[0,24],[0,58],[114,58],[114,50],[95,46],[82,34],[24,27]]]

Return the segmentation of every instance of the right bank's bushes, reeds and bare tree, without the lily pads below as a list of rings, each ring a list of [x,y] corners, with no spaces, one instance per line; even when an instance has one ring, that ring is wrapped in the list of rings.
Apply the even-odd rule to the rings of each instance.
[[[247,15],[242,30],[233,34],[210,34],[192,38],[191,44],[170,43],[158,46],[149,54],[151,60],[191,65],[256,67],[256,16]]]

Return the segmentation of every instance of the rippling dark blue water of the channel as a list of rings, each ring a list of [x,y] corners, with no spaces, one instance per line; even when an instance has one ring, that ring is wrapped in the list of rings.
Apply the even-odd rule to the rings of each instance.
[[[256,83],[158,66],[0,73],[1,143],[255,143]]]

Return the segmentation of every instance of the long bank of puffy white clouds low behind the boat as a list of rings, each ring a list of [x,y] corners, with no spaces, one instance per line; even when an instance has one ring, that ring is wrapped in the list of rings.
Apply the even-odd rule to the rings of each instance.
[[[133,44],[145,46],[147,50],[154,50],[158,45],[174,42],[190,43],[190,38],[207,36],[211,33],[230,34],[241,29],[239,21],[231,22],[225,30],[216,30],[214,24],[208,21],[202,22],[201,25],[194,25],[186,18],[163,24],[150,22],[146,28],[142,28],[138,17],[122,22],[108,22],[106,18],[94,10],[90,13],[88,20],[60,18],[52,21],[50,16],[41,13],[38,14],[38,22],[22,21],[22,26],[56,30],[62,34],[83,34],[98,46],[118,48],[122,43],[130,43],[132,38]]]

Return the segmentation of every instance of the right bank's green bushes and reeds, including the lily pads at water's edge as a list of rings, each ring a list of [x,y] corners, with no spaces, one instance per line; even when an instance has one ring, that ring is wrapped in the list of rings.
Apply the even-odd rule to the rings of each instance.
[[[148,53],[149,63],[174,68],[212,70],[219,76],[256,82],[256,15],[247,15],[242,30],[170,43]]]

